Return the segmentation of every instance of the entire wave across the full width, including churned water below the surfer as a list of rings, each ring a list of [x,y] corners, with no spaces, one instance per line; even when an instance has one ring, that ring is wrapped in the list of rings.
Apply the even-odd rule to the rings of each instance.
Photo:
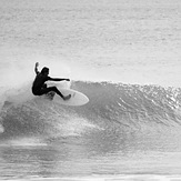
[[[181,89],[110,82],[72,82],[87,94],[83,107],[66,107],[40,98],[4,102],[0,139],[81,135],[92,130],[144,130],[181,124]]]

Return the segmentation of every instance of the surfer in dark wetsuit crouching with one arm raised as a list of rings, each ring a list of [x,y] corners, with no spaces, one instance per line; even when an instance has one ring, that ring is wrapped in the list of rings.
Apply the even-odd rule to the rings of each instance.
[[[64,101],[71,98],[71,94],[64,97],[57,87],[47,87],[46,81],[70,81],[70,79],[60,79],[60,78],[50,78],[49,77],[49,68],[44,67],[41,72],[38,71],[39,62],[36,63],[34,71],[37,77],[32,84],[32,93],[34,95],[42,95],[49,92],[56,92],[59,94]]]

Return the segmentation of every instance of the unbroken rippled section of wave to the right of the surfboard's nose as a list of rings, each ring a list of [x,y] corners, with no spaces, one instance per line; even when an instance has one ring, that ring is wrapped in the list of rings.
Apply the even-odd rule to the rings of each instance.
[[[142,124],[180,124],[181,89],[159,86],[77,82],[76,88],[88,94],[86,117],[100,118],[122,127]]]

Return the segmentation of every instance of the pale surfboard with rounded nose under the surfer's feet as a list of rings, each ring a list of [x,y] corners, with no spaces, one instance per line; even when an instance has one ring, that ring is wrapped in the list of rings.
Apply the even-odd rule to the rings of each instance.
[[[48,94],[46,94],[46,98],[60,104],[74,105],[74,107],[83,105],[89,102],[89,98],[82,92],[76,91],[73,89],[63,89],[63,88],[61,89],[59,88],[59,90],[63,95],[71,94],[71,98],[64,101],[60,95],[58,95],[54,92],[49,92]]]

